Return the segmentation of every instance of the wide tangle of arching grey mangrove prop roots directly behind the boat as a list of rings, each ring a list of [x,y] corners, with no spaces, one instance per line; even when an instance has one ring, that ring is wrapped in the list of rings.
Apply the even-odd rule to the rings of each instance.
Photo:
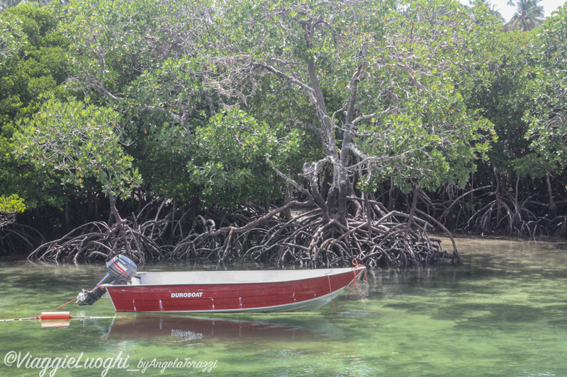
[[[176,211],[172,214],[163,203],[155,202],[143,209],[145,216],[138,214],[132,220],[112,225],[91,222],[79,226],[36,248],[29,258],[108,260],[132,250],[128,257],[137,262],[252,260],[308,267],[349,265],[353,257],[369,267],[456,262],[442,250],[439,239],[427,236],[428,223],[417,214],[408,222],[408,214],[386,213],[377,202],[366,199],[361,204],[371,206],[362,212],[366,215],[358,214],[347,224],[339,224],[335,220],[325,223],[320,209],[305,210],[289,220],[279,216],[280,212],[266,216],[265,209],[254,205],[230,212],[206,209],[190,219],[182,206],[172,207]],[[125,247],[125,242],[130,248]]]

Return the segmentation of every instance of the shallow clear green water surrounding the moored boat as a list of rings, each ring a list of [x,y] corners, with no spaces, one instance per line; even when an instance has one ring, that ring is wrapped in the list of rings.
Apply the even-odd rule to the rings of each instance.
[[[61,310],[109,318],[67,327],[0,323],[0,376],[40,376],[44,369],[44,376],[567,376],[567,244],[458,245],[457,267],[370,271],[339,316],[332,306],[283,315],[124,315],[104,297]],[[0,316],[49,311],[104,274],[103,266],[0,262]],[[10,359],[18,353],[19,368]],[[73,368],[33,361],[57,364],[57,357]],[[180,369],[162,369],[176,359]]]

